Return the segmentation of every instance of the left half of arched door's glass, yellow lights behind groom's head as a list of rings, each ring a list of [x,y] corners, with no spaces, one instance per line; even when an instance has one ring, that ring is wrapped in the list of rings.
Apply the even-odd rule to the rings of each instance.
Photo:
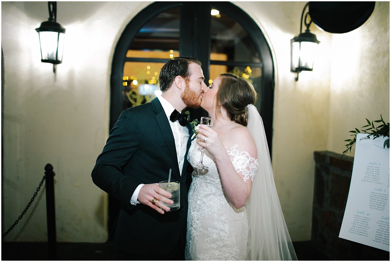
[[[148,103],[161,94],[160,69],[167,60],[179,56],[180,16],[180,7],[159,13],[129,44],[122,77],[122,110]]]

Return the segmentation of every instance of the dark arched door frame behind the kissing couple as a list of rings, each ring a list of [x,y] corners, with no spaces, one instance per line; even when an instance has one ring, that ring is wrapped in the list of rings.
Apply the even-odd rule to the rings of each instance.
[[[252,66],[262,68],[261,91],[260,94],[258,94],[258,99],[261,99],[261,107],[258,108],[258,110],[264,122],[266,138],[269,145],[269,151],[271,153],[274,104],[274,65],[271,50],[267,44],[265,36],[262,34],[262,31],[254,20],[246,12],[231,2],[154,2],[136,14],[120,36],[113,55],[110,76],[111,98],[109,130],[113,128],[123,110],[122,77],[125,62],[153,61],[165,63],[167,61],[165,59],[126,58],[129,44],[143,25],[151,18],[165,10],[178,6],[181,6],[179,53],[181,56],[192,56],[198,58],[202,63],[202,69],[206,80],[209,79],[210,64],[222,63],[222,61],[210,61],[209,58],[211,25],[210,19],[204,18],[210,16],[211,7],[213,6],[214,8],[219,9],[222,13],[229,15],[248,32],[261,58],[259,64]],[[188,25],[193,26],[189,27]],[[241,65],[241,63],[238,62],[232,63],[235,65]],[[245,66],[248,65],[248,63],[242,64]],[[189,111],[192,119],[199,119],[200,116],[206,115],[206,111],[202,108],[196,110],[190,109]],[[109,231],[113,228],[118,209],[118,201],[109,196]]]

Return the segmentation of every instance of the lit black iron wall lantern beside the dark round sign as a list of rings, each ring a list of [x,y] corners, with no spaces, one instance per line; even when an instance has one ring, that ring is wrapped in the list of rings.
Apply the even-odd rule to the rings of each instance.
[[[304,24],[307,27],[304,33],[301,33],[303,26],[303,16],[309,2],[304,6],[300,20],[300,34],[291,39],[291,72],[297,72],[296,81],[299,80],[301,71],[312,71],[316,55],[317,45],[320,43],[315,34],[310,33],[312,23],[309,13],[305,14]],[[307,18],[309,22],[307,23]]]

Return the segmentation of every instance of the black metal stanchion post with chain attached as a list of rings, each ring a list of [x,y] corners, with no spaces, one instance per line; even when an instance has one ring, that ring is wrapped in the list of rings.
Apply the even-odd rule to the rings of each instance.
[[[45,166],[46,176],[46,217],[48,226],[49,260],[57,260],[56,212],[54,206],[54,172],[53,166]]]

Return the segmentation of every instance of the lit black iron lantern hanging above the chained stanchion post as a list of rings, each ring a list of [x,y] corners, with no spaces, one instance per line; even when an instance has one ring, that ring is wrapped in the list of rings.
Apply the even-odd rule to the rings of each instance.
[[[48,9],[49,20],[42,22],[41,26],[35,30],[39,35],[41,61],[52,63],[53,72],[56,72],[56,65],[63,61],[65,28],[56,22],[57,2],[48,2]]]

